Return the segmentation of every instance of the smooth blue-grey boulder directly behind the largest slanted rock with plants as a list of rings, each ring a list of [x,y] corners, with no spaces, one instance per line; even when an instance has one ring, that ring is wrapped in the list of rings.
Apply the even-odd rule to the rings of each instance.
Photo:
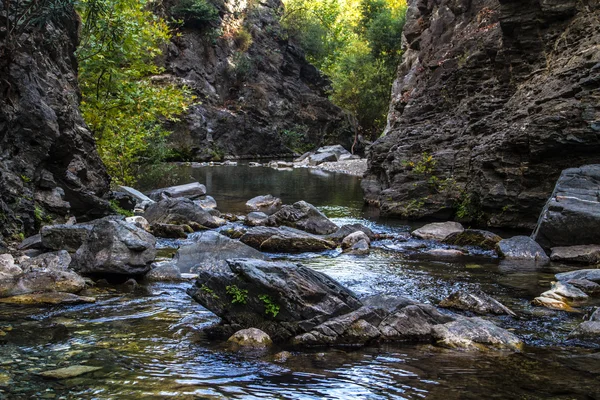
[[[218,232],[196,233],[192,239],[193,243],[182,245],[175,254],[174,261],[181,272],[226,266],[226,260],[231,258],[269,259],[260,251]]]

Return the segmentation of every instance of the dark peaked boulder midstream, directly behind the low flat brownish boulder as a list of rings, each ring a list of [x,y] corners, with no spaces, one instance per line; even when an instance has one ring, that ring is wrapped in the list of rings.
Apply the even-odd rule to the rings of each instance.
[[[269,217],[268,225],[285,225],[317,235],[327,235],[339,229],[315,206],[305,201],[298,201],[291,206],[283,206]]]

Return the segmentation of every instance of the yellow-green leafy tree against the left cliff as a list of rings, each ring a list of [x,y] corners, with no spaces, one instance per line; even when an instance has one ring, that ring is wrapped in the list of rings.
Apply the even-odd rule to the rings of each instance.
[[[159,79],[154,59],[171,33],[147,1],[81,0],[78,50],[83,117],[98,152],[118,183],[131,184],[152,158],[152,143],[168,135],[163,121],[177,121],[191,104],[188,88]]]

